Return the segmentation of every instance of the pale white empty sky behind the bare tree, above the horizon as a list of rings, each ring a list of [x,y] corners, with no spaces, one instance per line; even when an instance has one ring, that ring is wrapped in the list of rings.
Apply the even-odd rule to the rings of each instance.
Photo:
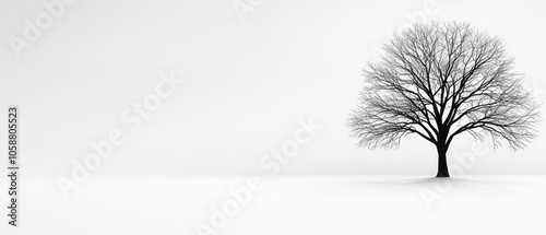
[[[79,0],[17,58],[8,38],[23,37],[25,19],[45,12],[43,2],[51,0],[0,2],[0,107],[21,106],[25,174],[69,174],[71,161],[111,129],[127,142],[100,174],[262,173],[260,158],[310,116],[323,129],[283,174],[436,174],[426,141],[370,151],[356,148],[345,128],[373,48],[407,15],[425,12],[426,1],[265,0],[241,22],[232,0]],[[546,98],[544,1],[438,0],[434,10],[428,20],[468,21],[503,38]],[[120,115],[169,70],[186,83],[131,132]],[[546,173],[544,130],[525,151],[482,154],[467,173]],[[449,156],[472,151],[465,138]]]

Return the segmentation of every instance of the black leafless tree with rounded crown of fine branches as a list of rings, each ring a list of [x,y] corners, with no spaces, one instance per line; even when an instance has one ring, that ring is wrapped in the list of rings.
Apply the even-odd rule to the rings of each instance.
[[[438,151],[437,177],[463,132],[495,146],[524,148],[536,136],[538,106],[501,39],[467,23],[415,24],[364,69],[366,85],[347,126],[359,146],[397,148],[414,133]]]

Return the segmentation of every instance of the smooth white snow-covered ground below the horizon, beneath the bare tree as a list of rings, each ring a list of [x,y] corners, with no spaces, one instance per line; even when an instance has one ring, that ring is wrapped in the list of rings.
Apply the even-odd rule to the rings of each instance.
[[[197,227],[225,235],[546,234],[546,176],[257,179],[249,188],[248,176],[95,177],[64,199],[55,178],[23,178],[20,226],[4,219],[1,227],[57,235],[200,234]]]

